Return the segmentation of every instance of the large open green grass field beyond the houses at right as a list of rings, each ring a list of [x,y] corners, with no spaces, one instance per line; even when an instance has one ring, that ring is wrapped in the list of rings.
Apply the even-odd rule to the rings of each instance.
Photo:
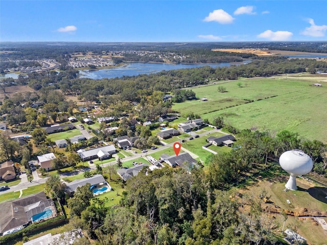
[[[208,101],[178,103],[173,109],[198,113],[209,121],[223,116],[225,122],[239,129],[257,127],[273,132],[286,129],[303,138],[327,142],[327,131],[322,127],[327,118],[327,86],[309,86],[317,82],[315,77],[298,76],[303,77],[242,80],[240,88],[239,81],[193,88],[197,97],[206,97]],[[227,92],[219,93],[220,85],[226,87]],[[245,104],[244,100],[254,102]]]

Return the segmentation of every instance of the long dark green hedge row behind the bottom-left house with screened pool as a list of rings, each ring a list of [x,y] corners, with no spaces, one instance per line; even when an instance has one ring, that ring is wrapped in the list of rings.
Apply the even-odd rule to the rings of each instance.
[[[41,222],[41,223],[37,223],[37,224],[34,223],[34,224],[29,225],[26,228],[21,229],[17,232],[14,232],[14,233],[11,233],[11,234],[8,234],[5,236],[1,236],[0,244],[6,244],[6,242],[9,242],[9,241],[12,241],[15,239],[19,239],[19,238],[22,239],[23,234],[28,235],[35,231],[38,231],[38,230],[41,230],[41,229],[44,229],[47,227],[52,227],[52,226],[55,226],[55,225],[58,225],[61,223],[65,223],[65,222],[67,222],[66,217],[64,215],[60,215],[55,218],[45,220],[44,222]]]

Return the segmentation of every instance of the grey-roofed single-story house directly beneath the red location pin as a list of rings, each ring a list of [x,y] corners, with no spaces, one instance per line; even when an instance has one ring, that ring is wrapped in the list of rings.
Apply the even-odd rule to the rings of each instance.
[[[187,152],[180,153],[178,154],[178,156],[169,156],[168,154],[162,154],[160,156],[160,159],[164,160],[171,167],[176,167],[178,165],[187,170],[190,170],[193,167],[198,167],[197,160],[192,158],[192,156]]]

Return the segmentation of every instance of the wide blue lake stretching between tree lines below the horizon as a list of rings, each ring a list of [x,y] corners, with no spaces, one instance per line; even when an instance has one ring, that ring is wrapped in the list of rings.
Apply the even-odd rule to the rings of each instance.
[[[244,61],[240,64],[248,64],[250,61]],[[235,64],[235,63],[233,63]],[[141,74],[153,74],[162,70],[175,70],[195,68],[202,66],[211,66],[213,68],[230,66],[231,63],[220,64],[166,64],[166,63],[126,63],[121,67],[99,70],[80,70],[80,78],[103,79],[103,78],[121,78],[123,76],[137,76]]]

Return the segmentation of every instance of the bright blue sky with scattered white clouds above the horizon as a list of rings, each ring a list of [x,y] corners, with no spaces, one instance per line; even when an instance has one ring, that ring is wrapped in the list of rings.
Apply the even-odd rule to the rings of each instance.
[[[327,1],[6,1],[0,41],[325,41]]]

